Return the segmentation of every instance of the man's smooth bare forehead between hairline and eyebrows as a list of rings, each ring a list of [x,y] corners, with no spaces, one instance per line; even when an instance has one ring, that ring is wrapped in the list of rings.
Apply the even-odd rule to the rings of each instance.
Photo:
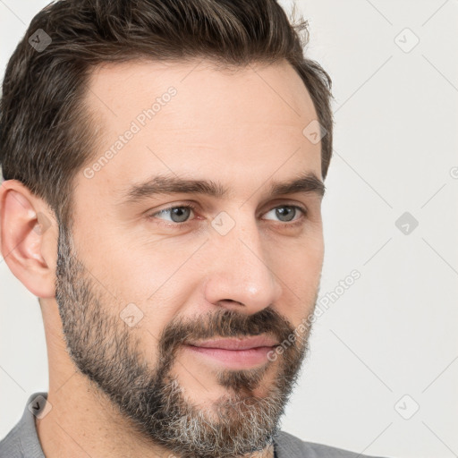
[[[302,133],[317,114],[286,62],[223,71],[207,61],[106,64],[92,73],[86,102],[100,130],[87,164],[97,170],[83,186],[121,191],[155,173],[321,177],[320,144]]]

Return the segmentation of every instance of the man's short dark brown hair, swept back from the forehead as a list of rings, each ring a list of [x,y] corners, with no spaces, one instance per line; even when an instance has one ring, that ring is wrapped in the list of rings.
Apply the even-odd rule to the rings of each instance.
[[[31,46],[38,30],[52,40],[44,49]],[[38,31],[42,39],[47,38],[43,31]],[[304,57],[308,40],[307,21],[291,23],[275,0],[49,4],[30,22],[6,67],[0,102],[4,179],[21,181],[69,227],[73,178],[94,150],[94,125],[82,103],[89,72],[105,62],[139,58],[208,58],[226,66],[286,59],[309,90],[327,132],[321,140],[325,178],[332,155],[331,80]]]

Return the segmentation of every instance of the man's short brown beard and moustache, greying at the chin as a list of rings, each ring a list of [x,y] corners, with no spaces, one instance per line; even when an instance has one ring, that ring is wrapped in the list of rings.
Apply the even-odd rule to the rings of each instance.
[[[218,308],[194,319],[175,318],[158,338],[153,364],[141,351],[139,335],[110,313],[113,296],[77,258],[71,234],[62,227],[55,289],[74,365],[146,440],[182,458],[233,458],[274,444],[280,417],[309,350],[310,320],[294,344],[288,342],[284,352],[262,367],[215,371],[217,383],[227,394],[206,411],[185,396],[178,377],[172,374],[177,351],[188,341],[265,333],[284,343],[294,334],[294,327],[276,310],[267,307],[247,315]],[[314,307],[317,297],[318,292]],[[276,377],[268,394],[255,396],[253,390],[263,386],[269,369],[276,371]],[[213,377],[213,371],[209,376]]]

